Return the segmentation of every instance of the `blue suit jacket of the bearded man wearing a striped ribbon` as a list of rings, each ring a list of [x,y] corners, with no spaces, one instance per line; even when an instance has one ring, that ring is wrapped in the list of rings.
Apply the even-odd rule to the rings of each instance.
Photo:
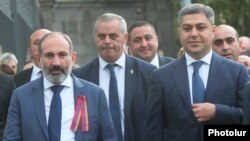
[[[76,141],[116,141],[104,91],[73,76],[74,98],[87,98],[89,131],[75,133]],[[70,127],[69,127],[70,128]],[[3,141],[49,141],[44,105],[43,77],[17,88],[12,95]]]

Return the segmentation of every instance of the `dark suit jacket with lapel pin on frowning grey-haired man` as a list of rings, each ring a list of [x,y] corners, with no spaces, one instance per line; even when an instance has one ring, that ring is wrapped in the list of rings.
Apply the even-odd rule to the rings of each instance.
[[[156,67],[137,58],[126,55],[124,141],[142,141],[144,134],[144,112],[146,89],[149,75]],[[131,73],[133,70],[133,73]],[[74,71],[75,75],[99,84],[99,59],[96,58],[84,67]]]

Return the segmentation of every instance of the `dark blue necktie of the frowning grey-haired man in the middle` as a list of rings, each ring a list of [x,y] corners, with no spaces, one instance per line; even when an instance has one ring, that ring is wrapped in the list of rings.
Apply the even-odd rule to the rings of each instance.
[[[121,127],[121,109],[118,97],[117,80],[114,71],[114,64],[108,64],[107,68],[110,71],[110,81],[109,81],[109,109],[113,124],[115,126],[118,141],[122,141],[122,127]]]

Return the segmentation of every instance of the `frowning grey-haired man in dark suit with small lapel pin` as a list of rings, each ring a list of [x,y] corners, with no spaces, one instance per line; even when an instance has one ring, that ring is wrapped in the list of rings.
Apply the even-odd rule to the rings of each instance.
[[[124,53],[128,34],[123,17],[112,13],[101,15],[95,23],[94,34],[99,56],[74,70],[74,73],[102,87],[110,106],[110,102],[114,101],[110,100],[110,72],[107,65],[114,64],[119,98],[116,102],[120,105],[122,128],[121,133],[116,128],[118,136],[120,134],[118,141],[142,141],[148,76],[156,67]]]

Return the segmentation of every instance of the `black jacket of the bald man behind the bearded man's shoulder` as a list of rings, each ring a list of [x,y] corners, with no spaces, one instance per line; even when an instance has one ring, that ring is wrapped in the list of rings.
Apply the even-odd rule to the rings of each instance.
[[[23,70],[17,73],[16,75],[14,75],[16,87],[19,87],[25,83],[30,82],[32,70],[33,70],[33,67],[27,70]]]

